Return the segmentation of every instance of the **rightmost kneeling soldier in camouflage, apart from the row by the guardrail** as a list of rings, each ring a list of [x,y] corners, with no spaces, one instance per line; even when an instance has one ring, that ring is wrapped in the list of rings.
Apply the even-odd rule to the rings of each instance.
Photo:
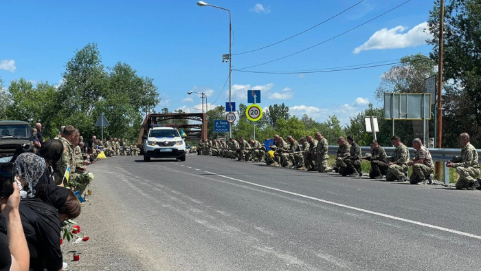
[[[467,133],[461,133],[459,144],[462,146],[461,157],[455,157],[447,166],[455,168],[459,174],[456,189],[467,188],[468,190],[474,190],[480,187],[479,180],[476,180],[480,175],[478,152],[469,142]]]

